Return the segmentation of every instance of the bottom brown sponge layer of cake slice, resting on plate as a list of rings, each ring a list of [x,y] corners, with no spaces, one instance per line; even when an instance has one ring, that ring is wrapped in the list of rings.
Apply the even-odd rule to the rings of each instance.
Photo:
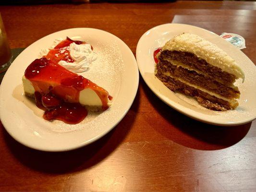
[[[238,106],[238,102],[236,100],[224,100],[224,98],[218,98],[216,95],[211,95],[209,92],[205,92],[198,87],[185,84],[170,76],[164,76],[163,74],[157,72],[156,77],[171,91],[179,91],[185,95],[195,97],[198,103],[205,108],[217,111],[226,111],[229,109],[234,109]]]

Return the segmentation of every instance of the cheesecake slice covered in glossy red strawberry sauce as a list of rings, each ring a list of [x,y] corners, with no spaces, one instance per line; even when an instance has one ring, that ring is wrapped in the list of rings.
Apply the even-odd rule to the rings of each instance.
[[[34,60],[22,78],[24,93],[34,97],[45,110],[45,120],[76,124],[85,119],[87,110],[106,110],[112,97],[102,87],[67,70],[47,57]]]

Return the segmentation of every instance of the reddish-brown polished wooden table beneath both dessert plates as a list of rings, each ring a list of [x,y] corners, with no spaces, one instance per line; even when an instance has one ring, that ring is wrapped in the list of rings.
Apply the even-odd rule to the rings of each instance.
[[[120,37],[135,54],[144,32],[176,15],[181,23],[244,36],[243,52],[256,63],[255,10],[255,2],[234,1],[0,7],[12,48],[65,28],[93,27]],[[160,101],[142,78],[127,115],[89,146],[36,151],[0,127],[0,191],[256,191],[256,121],[197,122]]]

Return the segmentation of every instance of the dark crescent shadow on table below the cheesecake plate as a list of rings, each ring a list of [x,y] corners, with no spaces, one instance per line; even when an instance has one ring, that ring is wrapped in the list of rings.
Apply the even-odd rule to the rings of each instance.
[[[138,97],[138,93],[136,98]],[[130,131],[137,114],[138,100],[123,120],[107,135],[85,147],[67,152],[43,152],[16,142],[4,129],[3,135],[12,154],[25,166],[42,172],[65,173],[90,168],[109,156]]]

